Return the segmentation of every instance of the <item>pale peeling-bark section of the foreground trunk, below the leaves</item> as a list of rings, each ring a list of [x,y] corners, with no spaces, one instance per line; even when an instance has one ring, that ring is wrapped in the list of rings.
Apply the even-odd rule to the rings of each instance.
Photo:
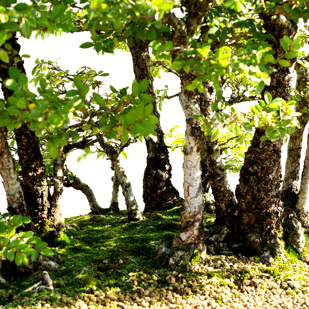
[[[191,74],[183,74],[179,96],[187,124],[183,163],[184,208],[179,217],[181,228],[173,239],[173,247],[181,244],[200,244],[204,239],[204,204],[201,181],[201,149],[204,132],[201,129],[202,121],[194,118],[194,115],[201,115],[199,104],[196,101],[197,93],[186,90],[186,86],[191,83],[192,79]]]

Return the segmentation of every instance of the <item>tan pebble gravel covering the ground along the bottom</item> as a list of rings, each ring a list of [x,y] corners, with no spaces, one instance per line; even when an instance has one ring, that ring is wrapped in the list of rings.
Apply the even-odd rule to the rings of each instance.
[[[119,287],[100,290],[92,286],[85,293],[76,294],[75,299],[65,294],[59,295],[59,299],[64,309],[309,308],[309,265],[294,263],[288,271],[277,267],[280,273],[274,281],[265,272],[267,268],[253,258],[220,256],[217,260],[210,258],[207,265],[193,266],[191,275],[175,271],[147,274],[136,269],[135,273],[129,273],[125,287],[121,287],[122,291],[127,290],[123,294]],[[36,302],[32,308],[59,308],[59,304],[52,304],[48,298],[31,300]]]

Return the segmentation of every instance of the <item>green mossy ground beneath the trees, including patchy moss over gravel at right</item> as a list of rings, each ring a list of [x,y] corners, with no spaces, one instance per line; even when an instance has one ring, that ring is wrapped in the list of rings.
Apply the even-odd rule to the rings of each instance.
[[[55,307],[63,307],[66,297],[83,298],[86,289],[93,286],[98,290],[108,287],[115,293],[123,294],[126,291],[133,292],[138,287],[168,286],[166,278],[171,270],[165,265],[157,265],[156,248],[163,241],[171,241],[177,234],[180,212],[181,208],[176,207],[146,214],[144,220],[131,223],[128,223],[125,211],[113,215],[89,214],[67,218],[66,231],[49,244],[55,254],[64,258],[58,262],[62,269],[47,269],[40,264],[35,264],[32,269],[12,265],[7,271],[2,267],[6,282],[0,282],[0,308],[21,305],[30,309],[38,300],[44,299],[48,299]],[[205,225],[211,226],[213,221],[214,216],[209,215]],[[252,285],[252,280],[258,279],[262,284],[267,277],[279,282],[287,293],[294,293],[295,289],[309,291],[308,265],[301,261],[301,254],[296,254],[288,246],[286,252],[290,259],[287,262],[275,260],[270,267],[259,263],[257,257],[253,262],[248,260],[250,256],[228,256],[222,253],[224,251],[225,246],[208,246],[204,267],[198,265],[199,254],[196,252],[191,259],[191,266],[181,269],[182,275],[187,278],[187,286],[200,282],[190,287],[192,293],[203,289],[207,280],[219,286],[237,288],[247,281]],[[49,272],[55,290],[23,292],[42,280],[43,270]],[[144,276],[145,273],[148,275]],[[177,293],[182,293],[185,298],[188,295],[184,290],[177,290]],[[25,297],[33,300],[24,301]]]

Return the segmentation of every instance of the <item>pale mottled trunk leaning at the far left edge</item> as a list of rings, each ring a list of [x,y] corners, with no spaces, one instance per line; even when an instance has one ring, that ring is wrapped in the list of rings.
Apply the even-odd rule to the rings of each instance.
[[[6,128],[0,128],[0,174],[6,192],[7,211],[11,215],[21,214],[26,216],[27,209],[23,189],[6,137]]]

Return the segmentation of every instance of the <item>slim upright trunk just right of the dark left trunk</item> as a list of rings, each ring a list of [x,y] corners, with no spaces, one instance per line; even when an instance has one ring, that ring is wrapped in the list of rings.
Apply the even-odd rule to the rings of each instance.
[[[49,211],[49,219],[53,222],[53,226],[55,226],[58,231],[65,229],[64,220],[62,219],[59,205],[59,201],[63,193],[63,168],[65,160],[66,155],[63,153],[63,147],[59,146],[57,157],[53,161],[54,191],[51,208]]]

